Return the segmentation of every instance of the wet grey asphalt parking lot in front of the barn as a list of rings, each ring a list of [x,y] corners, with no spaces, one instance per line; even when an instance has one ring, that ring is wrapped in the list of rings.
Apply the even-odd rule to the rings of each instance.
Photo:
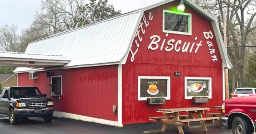
[[[195,124],[196,125],[196,124]],[[37,134],[37,133],[152,133],[152,134],[164,134],[164,133],[179,133],[174,125],[167,125],[167,131],[160,132],[162,125],[159,123],[142,123],[142,124],[132,124],[124,125],[124,127],[113,127],[110,125],[85,122],[79,120],[72,120],[66,118],[54,118],[51,123],[45,123],[41,118],[29,118],[27,121],[20,121],[17,125],[11,125],[9,120],[6,118],[0,119],[0,133],[19,133],[19,134]],[[231,130],[225,130],[222,127],[216,125],[207,126],[207,132],[203,132],[201,128],[197,125],[191,129],[189,132],[191,134],[199,133],[225,133],[231,134]]]

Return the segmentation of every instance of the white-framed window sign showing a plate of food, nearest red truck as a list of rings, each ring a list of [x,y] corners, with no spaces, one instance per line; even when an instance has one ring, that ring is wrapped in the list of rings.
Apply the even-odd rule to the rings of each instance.
[[[185,99],[193,97],[212,98],[212,78],[185,77]]]

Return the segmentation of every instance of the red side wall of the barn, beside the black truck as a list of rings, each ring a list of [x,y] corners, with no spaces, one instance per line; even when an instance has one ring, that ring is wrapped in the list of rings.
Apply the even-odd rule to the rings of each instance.
[[[62,95],[51,97],[57,111],[117,121],[113,105],[117,105],[117,65],[51,70],[62,76]],[[28,73],[19,73],[19,86],[37,86],[50,95],[51,77],[38,72],[37,80],[29,80]]]

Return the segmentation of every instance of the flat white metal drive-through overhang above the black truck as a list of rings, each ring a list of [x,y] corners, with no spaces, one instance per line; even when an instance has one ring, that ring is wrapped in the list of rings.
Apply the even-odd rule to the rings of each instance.
[[[0,66],[51,68],[64,66],[69,62],[69,58],[61,55],[0,52]]]

